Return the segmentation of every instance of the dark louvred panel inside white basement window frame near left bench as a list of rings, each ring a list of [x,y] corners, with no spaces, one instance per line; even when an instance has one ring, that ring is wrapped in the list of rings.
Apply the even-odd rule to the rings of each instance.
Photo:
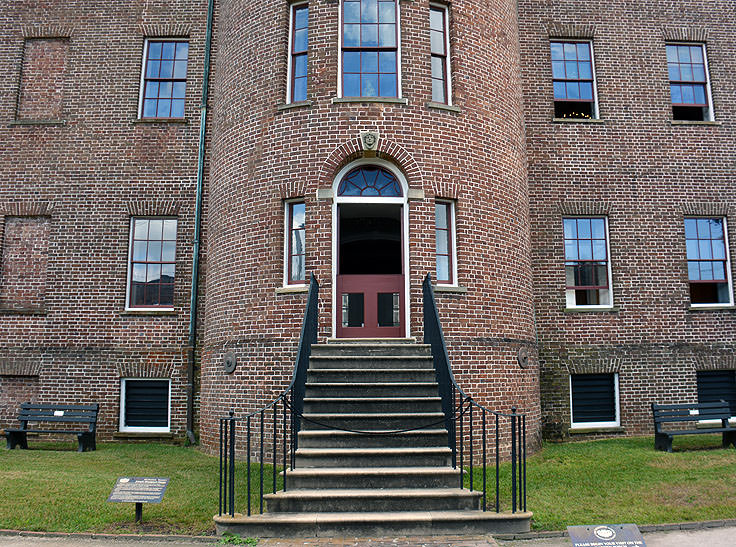
[[[124,380],[126,427],[169,427],[169,381]]]

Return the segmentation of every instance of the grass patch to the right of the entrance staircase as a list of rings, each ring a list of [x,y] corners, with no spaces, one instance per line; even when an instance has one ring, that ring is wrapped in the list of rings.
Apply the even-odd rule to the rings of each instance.
[[[477,488],[482,473],[474,475]],[[502,466],[502,508],[510,507],[509,476]],[[736,450],[721,448],[720,435],[677,438],[671,454],[655,451],[652,437],[545,444],[527,461],[527,507],[536,530],[718,520],[736,514],[734,476]],[[487,481],[490,505],[495,470]]]

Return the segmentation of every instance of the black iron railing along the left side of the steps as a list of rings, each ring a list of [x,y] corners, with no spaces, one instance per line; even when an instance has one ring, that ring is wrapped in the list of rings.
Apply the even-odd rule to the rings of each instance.
[[[263,513],[263,464],[264,464],[264,437],[265,422],[270,418],[273,426],[271,436],[272,456],[272,492],[276,492],[276,464],[279,452],[279,420],[281,420],[282,441],[282,467],[284,473],[284,490],[286,489],[287,467],[294,469],[295,453],[297,449],[298,433],[301,429],[301,416],[304,409],[304,391],[306,389],[307,369],[309,368],[309,356],[312,353],[312,344],[317,343],[317,329],[319,320],[319,283],[314,274],[309,276],[309,292],[307,293],[307,306],[304,310],[302,330],[299,335],[299,346],[297,347],[294,372],[291,382],[284,391],[273,401],[258,410],[247,414],[244,418],[236,418],[230,411],[227,418],[220,418],[220,501],[219,514],[229,513],[235,515],[235,429],[238,421],[245,420],[246,429],[246,462],[247,462],[247,493],[248,493],[248,515],[251,514],[251,422],[258,420],[260,438],[259,444],[259,488],[260,488],[260,512]],[[279,406],[281,407],[279,409]],[[269,417],[267,411],[271,411]],[[288,425],[287,425],[288,424]],[[289,466],[287,466],[287,458]]]

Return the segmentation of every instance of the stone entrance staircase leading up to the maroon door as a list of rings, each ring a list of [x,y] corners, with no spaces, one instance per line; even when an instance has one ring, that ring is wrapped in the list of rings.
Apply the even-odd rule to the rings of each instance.
[[[303,417],[286,491],[265,495],[262,515],[215,517],[218,533],[346,537],[529,530],[531,513],[483,512],[481,493],[459,488],[428,345],[406,339],[313,345]]]

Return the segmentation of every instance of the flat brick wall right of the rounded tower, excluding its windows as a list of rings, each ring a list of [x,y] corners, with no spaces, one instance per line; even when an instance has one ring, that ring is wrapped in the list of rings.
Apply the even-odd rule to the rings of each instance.
[[[519,3],[541,397],[570,423],[569,375],[618,372],[626,434],[649,404],[697,399],[695,371],[735,368],[736,311],[690,309],[683,219],[727,216],[736,252],[736,38],[727,1]],[[550,38],[591,38],[602,123],[555,123]],[[713,125],[673,124],[670,40],[705,40]],[[562,216],[609,220],[614,310],[565,312]],[[555,433],[557,431],[557,433]]]

